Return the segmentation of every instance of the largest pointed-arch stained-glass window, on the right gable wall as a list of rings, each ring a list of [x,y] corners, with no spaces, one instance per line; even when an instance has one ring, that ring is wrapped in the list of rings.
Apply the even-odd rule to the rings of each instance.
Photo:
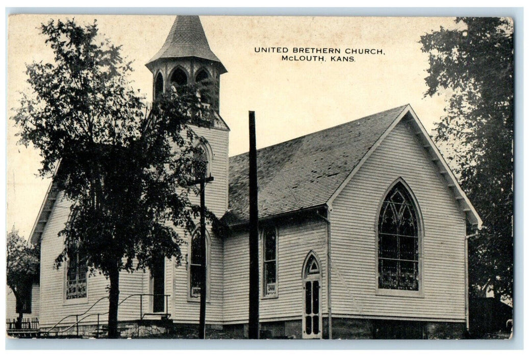
[[[412,195],[397,182],[378,219],[378,287],[419,290],[419,215]]]

